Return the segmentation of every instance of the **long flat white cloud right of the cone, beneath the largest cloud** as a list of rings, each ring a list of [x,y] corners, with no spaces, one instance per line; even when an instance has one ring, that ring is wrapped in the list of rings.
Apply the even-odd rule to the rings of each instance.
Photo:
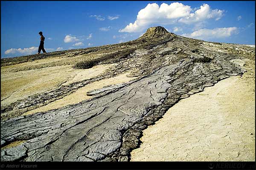
[[[196,38],[200,40],[209,40],[212,38],[230,37],[232,34],[238,34],[238,28],[214,28],[214,29],[200,29],[191,34],[182,34],[183,37]]]

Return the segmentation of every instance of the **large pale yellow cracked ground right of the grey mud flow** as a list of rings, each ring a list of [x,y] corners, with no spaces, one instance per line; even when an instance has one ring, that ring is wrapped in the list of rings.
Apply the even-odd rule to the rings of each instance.
[[[255,161],[255,64],[182,99],[143,130],[131,161]]]

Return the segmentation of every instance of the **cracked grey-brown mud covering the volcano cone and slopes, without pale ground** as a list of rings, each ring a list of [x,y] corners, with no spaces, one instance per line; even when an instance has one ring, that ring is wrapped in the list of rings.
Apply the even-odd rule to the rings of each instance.
[[[72,65],[83,65],[93,57],[104,59],[93,60],[100,61],[96,67],[111,65],[90,79],[65,79],[50,91],[1,105],[1,161],[129,161],[131,150],[140,143],[142,130],[154,124],[176,102],[221,79],[242,75],[246,70],[232,59],[255,58],[255,48],[249,46],[236,45],[248,51],[239,54],[224,49],[232,44],[189,39],[163,29],[149,28],[139,39],[121,44],[53,52],[43,56],[55,59],[48,65],[24,66],[26,56],[13,61],[1,59],[1,68],[12,67],[10,72],[17,73],[62,65],[70,65],[71,69]],[[122,51],[124,57],[120,55]],[[133,52],[127,55],[127,51]],[[33,56],[30,59],[40,61]],[[17,63],[23,66],[16,67]],[[135,79],[89,91],[91,99],[20,116],[93,82],[127,72],[127,77]],[[64,84],[68,81],[71,83]]]

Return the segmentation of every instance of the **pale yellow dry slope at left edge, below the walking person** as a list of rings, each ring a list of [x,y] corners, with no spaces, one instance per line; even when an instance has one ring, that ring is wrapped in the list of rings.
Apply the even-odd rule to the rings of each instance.
[[[28,71],[11,72],[13,68],[22,66],[35,66],[38,63],[47,64],[59,60],[39,59],[33,62],[25,62],[1,68],[1,106],[25,99],[33,94],[44,93],[53,90],[60,85],[90,79],[102,74],[113,64],[96,65],[89,69],[74,69],[73,65],[53,66],[33,69]]]

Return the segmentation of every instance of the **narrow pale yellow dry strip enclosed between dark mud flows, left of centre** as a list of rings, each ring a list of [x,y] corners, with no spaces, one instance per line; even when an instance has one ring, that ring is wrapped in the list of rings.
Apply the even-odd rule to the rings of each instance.
[[[49,110],[61,108],[61,107],[67,106],[67,105],[76,104],[76,103],[79,103],[86,99],[90,99],[90,98],[92,98],[92,96],[86,95],[86,93],[90,90],[103,88],[104,86],[107,86],[107,85],[114,85],[114,84],[118,84],[118,83],[129,82],[130,80],[136,78],[136,77],[126,77],[128,74],[130,74],[130,73],[120,74],[116,77],[112,77],[109,79],[102,79],[102,80],[90,83],[88,85],[85,85],[82,88],[79,88],[76,92],[74,92],[68,96],[65,96],[62,99],[51,102],[48,105],[45,105],[41,108],[37,108],[32,111],[28,111],[28,112],[24,113],[23,115],[29,115],[29,114],[33,114],[33,113],[37,113],[37,112],[49,111]]]

